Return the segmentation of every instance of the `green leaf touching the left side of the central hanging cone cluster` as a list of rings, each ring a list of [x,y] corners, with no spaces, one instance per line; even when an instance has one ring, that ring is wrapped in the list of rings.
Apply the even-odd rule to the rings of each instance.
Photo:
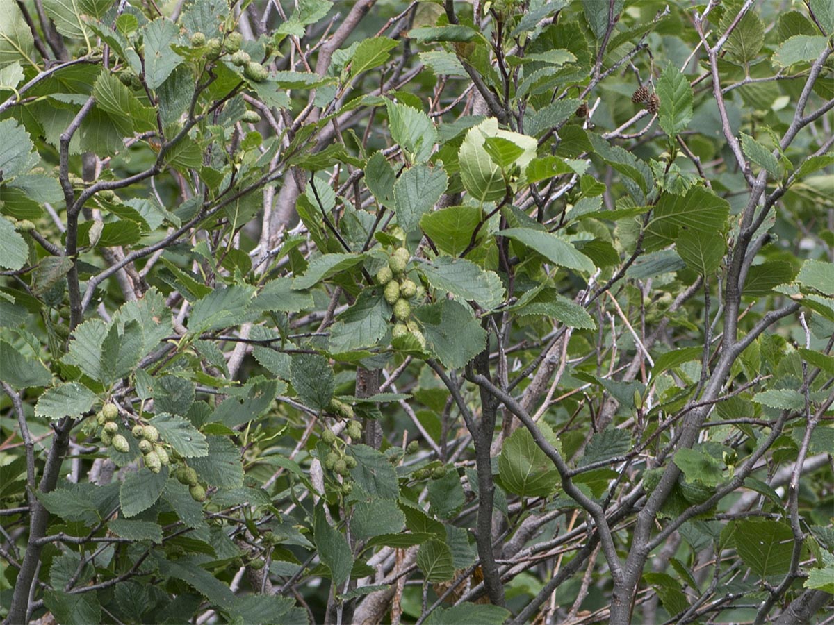
[[[345,353],[374,347],[388,331],[390,318],[391,308],[382,293],[360,293],[356,303],[330,326],[329,352]]]

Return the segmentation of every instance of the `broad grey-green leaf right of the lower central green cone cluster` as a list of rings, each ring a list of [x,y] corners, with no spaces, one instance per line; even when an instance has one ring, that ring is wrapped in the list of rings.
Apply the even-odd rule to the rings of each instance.
[[[445,367],[460,368],[486,345],[486,331],[470,310],[453,300],[443,300],[414,310],[425,335],[426,346]]]

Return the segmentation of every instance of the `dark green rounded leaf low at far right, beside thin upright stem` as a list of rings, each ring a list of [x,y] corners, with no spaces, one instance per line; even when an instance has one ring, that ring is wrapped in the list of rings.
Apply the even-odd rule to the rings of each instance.
[[[736,522],[736,550],[741,561],[760,577],[783,575],[791,567],[793,532],[769,519]]]

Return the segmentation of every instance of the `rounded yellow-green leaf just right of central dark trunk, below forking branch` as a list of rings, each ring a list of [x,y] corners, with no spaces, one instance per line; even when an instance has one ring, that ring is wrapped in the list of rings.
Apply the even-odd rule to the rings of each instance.
[[[538,423],[542,435],[557,450],[559,440],[544,421]],[[559,471],[533,440],[527,428],[516,428],[507,438],[498,457],[501,485],[521,497],[547,497],[561,482]]]

